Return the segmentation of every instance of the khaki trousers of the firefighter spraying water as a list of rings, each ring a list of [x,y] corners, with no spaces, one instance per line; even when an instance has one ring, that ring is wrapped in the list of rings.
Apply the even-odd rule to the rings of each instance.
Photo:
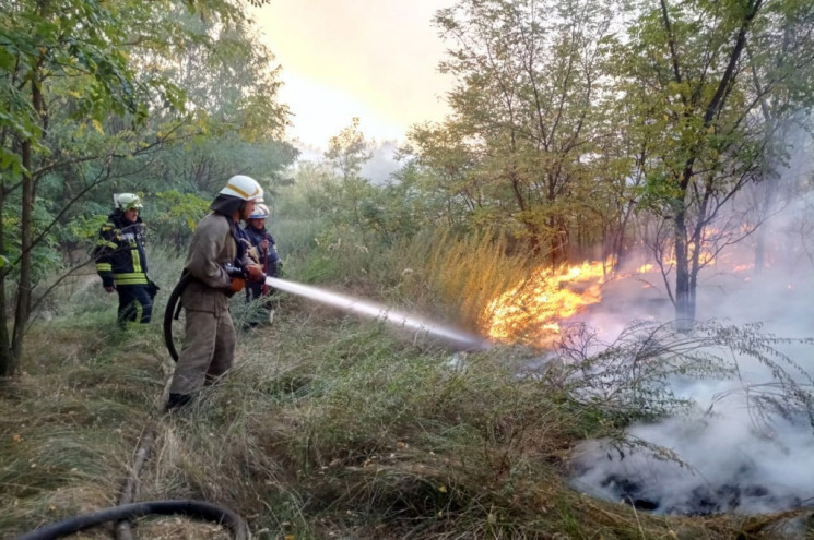
[[[169,386],[189,395],[215,382],[235,362],[235,326],[227,310],[220,313],[186,309],[186,337]]]

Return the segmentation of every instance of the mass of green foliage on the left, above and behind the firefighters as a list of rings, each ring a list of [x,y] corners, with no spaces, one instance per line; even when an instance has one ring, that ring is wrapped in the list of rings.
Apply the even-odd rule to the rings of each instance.
[[[62,259],[84,262],[113,193],[209,197],[244,172],[272,195],[296,151],[279,141],[278,71],[241,2],[4,2],[0,22],[0,286],[23,307],[11,346],[0,336],[7,374],[43,300],[28,291]],[[148,211],[155,239],[184,245],[201,206],[179,195]]]

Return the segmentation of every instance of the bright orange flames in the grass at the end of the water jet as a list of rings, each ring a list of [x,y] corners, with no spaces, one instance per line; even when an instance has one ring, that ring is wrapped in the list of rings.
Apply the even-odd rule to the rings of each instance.
[[[538,345],[550,343],[562,320],[602,300],[606,268],[606,263],[595,261],[557,269],[539,267],[488,303],[481,315],[482,332],[497,341],[531,333]]]

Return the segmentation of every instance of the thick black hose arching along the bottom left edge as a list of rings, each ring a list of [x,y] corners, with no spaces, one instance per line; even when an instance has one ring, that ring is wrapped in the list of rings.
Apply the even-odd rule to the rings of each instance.
[[[16,540],[52,540],[108,521],[119,521],[149,515],[168,516],[175,514],[182,514],[223,525],[232,531],[232,538],[234,540],[249,539],[249,530],[246,521],[231,509],[201,501],[150,501],[114,506],[113,508],[75,516],[40,527],[19,537]]]

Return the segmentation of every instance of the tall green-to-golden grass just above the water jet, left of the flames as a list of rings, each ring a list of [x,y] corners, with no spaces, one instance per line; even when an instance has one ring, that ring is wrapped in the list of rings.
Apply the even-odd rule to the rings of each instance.
[[[528,257],[506,254],[504,238],[425,230],[393,245],[362,244],[350,230],[315,237],[286,276],[356,293],[476,332],[488,302],[528,276]]]

